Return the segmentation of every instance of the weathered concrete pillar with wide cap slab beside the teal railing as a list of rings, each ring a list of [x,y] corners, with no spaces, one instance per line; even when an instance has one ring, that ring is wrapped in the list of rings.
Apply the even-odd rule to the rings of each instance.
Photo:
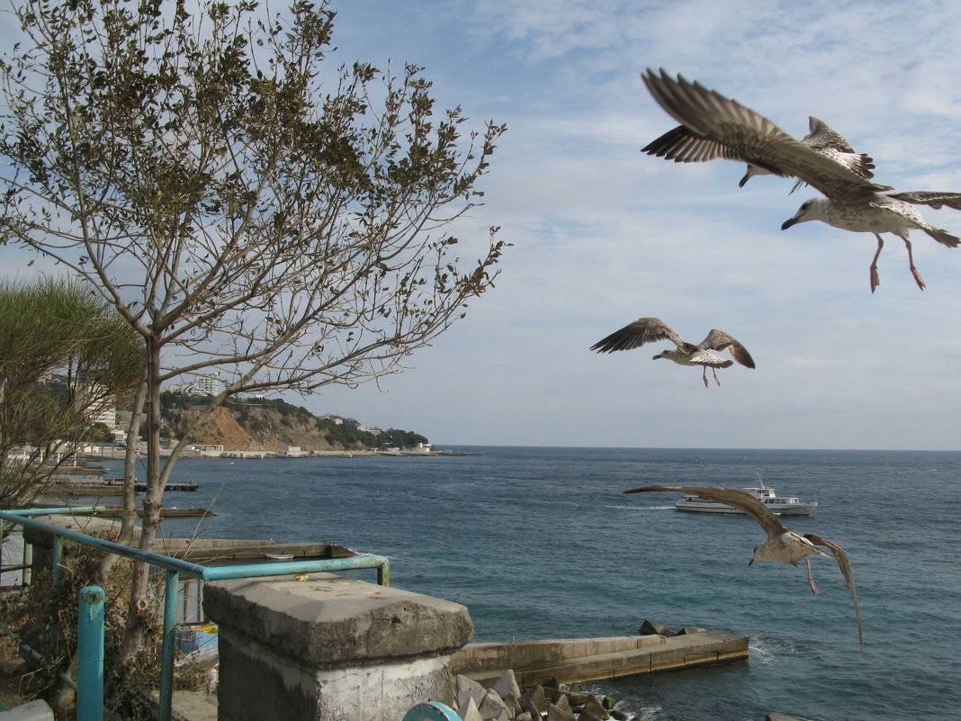
[[[398,721],[452,704],[451,654],[474,633],[463,606],[330,573],[217,581],[218,718]]]

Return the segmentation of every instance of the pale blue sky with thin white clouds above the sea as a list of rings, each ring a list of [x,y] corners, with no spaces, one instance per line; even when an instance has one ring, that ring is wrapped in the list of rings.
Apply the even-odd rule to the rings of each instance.
[[[640,152],[676,122],[663,67],[802,137],[815,115],[899,190],[961,191],[961,5],[727,0],[340,0],[331,62],[412,62],[439,104],[507,132],[456,226],[512,246],[467,317],[379,384],[288,400],[442,445],[961,449],[961,249],[918,231],[781,231],[817,191],[737,162]],[[961,235],[961,212],[920,209]],[[0,248],[0,262],[19,262]],[[750,370],[589,348],[641,316],[741,341]],[[708,374],[708,377],[710,374]]]

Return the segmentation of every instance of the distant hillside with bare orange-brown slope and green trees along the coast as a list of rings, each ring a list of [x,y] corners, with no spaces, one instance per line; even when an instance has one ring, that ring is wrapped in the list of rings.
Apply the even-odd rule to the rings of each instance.
[[[190,417],[206,405],[206,399],[163,393],[161,436],[180,437]],[[304,451],[407,448],[427,442],[423,435],[389,429],[381,434],[359,430],[351,418],[318,417],[307,409],[280,399],[238,399],[213,410],[200,428],[189,436],[192,443],[222,444],[227,451],[278,451],[282,445]]]

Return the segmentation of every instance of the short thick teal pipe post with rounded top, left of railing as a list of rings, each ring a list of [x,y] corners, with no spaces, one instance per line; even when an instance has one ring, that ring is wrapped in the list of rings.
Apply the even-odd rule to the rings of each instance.
[[[80,589],[77,636],[77,721],[104,718],[104,589]]]

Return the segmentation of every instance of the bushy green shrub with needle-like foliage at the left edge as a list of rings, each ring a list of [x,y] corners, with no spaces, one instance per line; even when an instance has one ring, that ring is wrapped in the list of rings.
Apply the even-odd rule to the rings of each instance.
[[[0,282],[0,508],[74,463],[93,419],[129,401],[142,340],[78,280]]]

